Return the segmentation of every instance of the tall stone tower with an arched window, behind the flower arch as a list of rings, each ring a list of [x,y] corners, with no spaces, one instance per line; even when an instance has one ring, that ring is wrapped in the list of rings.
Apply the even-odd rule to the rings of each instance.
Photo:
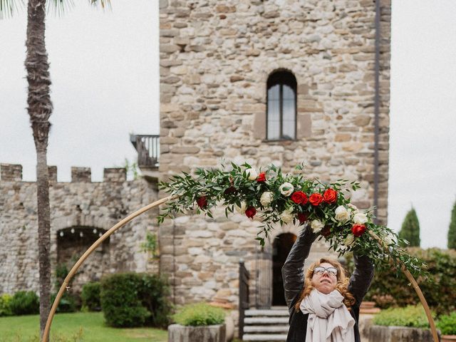
[[[389,84],[390,0],[162,0],[160,177],[304,162],[309,177],[359,180],[352,202],[377,203],[385,224]],[[279,305],[278,254],[298,232],[278,228],[259,251],[240,214],[181,216],[160,228],[160,269],[177,304],[237,305],[244,259],[251,304]]]

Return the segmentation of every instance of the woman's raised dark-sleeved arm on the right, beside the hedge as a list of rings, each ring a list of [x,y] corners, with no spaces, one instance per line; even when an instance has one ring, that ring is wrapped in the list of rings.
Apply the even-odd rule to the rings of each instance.
[[[366,255],[358,255],[353,253],[353,261],[355,261],[355,270],[350,277],[348,291],[353,294],[356,299],[356,305],[360,305],[363,301],[366,292],[371,286],[373,279],[373,263]]]

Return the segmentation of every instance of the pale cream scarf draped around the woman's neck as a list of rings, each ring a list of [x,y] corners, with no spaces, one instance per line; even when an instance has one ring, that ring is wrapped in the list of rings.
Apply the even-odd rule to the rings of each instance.
[[[305,342],[354,342],[355,320],[343,304],[343,296],[334,290],[322,294],[313,289],[299,306],[303,314],[309,314]]]

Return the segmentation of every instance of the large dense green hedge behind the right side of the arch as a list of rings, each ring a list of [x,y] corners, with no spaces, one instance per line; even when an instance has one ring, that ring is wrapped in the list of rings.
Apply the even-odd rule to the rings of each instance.
[[[456,252],[441,249],[408,249],[427,264],[428,278],[418,276],[416,281],[423,291],[427,304],[437,314],[449,314],[456,310]],[[351,257],[346,255],[349,269],[353,269]],[[407,306],[416,304],[418,296],[405,276],[395,276],[395,270],[376,271],[366,300],[375,301],[378,307]]]

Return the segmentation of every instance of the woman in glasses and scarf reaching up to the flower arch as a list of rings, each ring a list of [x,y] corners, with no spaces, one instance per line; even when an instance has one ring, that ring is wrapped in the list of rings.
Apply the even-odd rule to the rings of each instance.
[[[359,306],[373,278],[373,264],[353,254],[355,271],[348,280],[338,261],[320,259],[304,279],[304,260],[317,235],[306,227],[282,267],[290,313],[287,342],[361,342]]]

